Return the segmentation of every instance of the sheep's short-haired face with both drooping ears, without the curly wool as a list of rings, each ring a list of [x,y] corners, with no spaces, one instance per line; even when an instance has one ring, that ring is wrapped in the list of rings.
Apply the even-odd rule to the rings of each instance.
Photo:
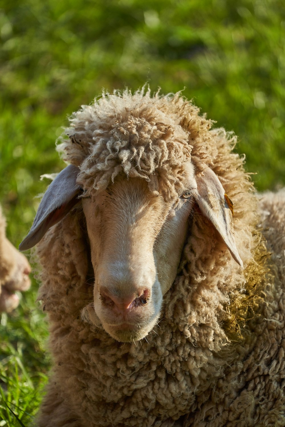
[[[173,199],[151,192],[144,179],[125,175],[118,175],[106,189],[85,195],[78,173],[77,167],[69,165],[52,182],[20,249],[35,245],[81,201],[94,268],[94,311],[118,341],[142,339],[158,322],[163,295],[176,277],[194,206],[212,222],[242,265],[228,199],[212,170],[198,178],[189,162]]]

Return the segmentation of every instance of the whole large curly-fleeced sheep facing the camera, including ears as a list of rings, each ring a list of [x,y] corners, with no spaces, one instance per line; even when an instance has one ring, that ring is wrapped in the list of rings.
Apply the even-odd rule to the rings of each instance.
[[[38,426],[284,426],[284,191],[259,202],[235,136],[179,93],[70,121],[20,245],[50,322]]]

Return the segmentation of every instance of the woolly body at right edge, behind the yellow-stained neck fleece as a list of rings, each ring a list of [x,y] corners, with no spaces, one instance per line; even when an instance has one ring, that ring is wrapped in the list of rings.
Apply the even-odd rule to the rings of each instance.
[[[214,427],[229,420],[233,426],[284,425],[285,189],[258,197],[259,228],[270,254],[264,304],[248,322],[244,340],[232,343],[235,363],[225,369],[209,401],[185,418],[185,427],[205,421]]]

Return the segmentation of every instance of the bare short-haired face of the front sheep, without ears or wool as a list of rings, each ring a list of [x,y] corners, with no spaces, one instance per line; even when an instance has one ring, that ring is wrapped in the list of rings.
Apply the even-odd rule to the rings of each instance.
[[[194,185],[189,172],[185,188]],[[118,341],[144,338],[159,319],[193,206],[183,194],[165,202],[150,193],[144,180],[119,178],[94,199],[82,199],[95,276],[94,309]]]

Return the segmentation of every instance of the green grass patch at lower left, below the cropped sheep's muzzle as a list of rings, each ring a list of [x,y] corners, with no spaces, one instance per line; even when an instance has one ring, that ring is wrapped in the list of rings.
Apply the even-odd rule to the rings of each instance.
[[[50,360],[47,325],[35,308],[35,283],[12,314],[0,321],[0,427],[29,426],[41,401]],[[15,415],[20,422],[17,420]]]

